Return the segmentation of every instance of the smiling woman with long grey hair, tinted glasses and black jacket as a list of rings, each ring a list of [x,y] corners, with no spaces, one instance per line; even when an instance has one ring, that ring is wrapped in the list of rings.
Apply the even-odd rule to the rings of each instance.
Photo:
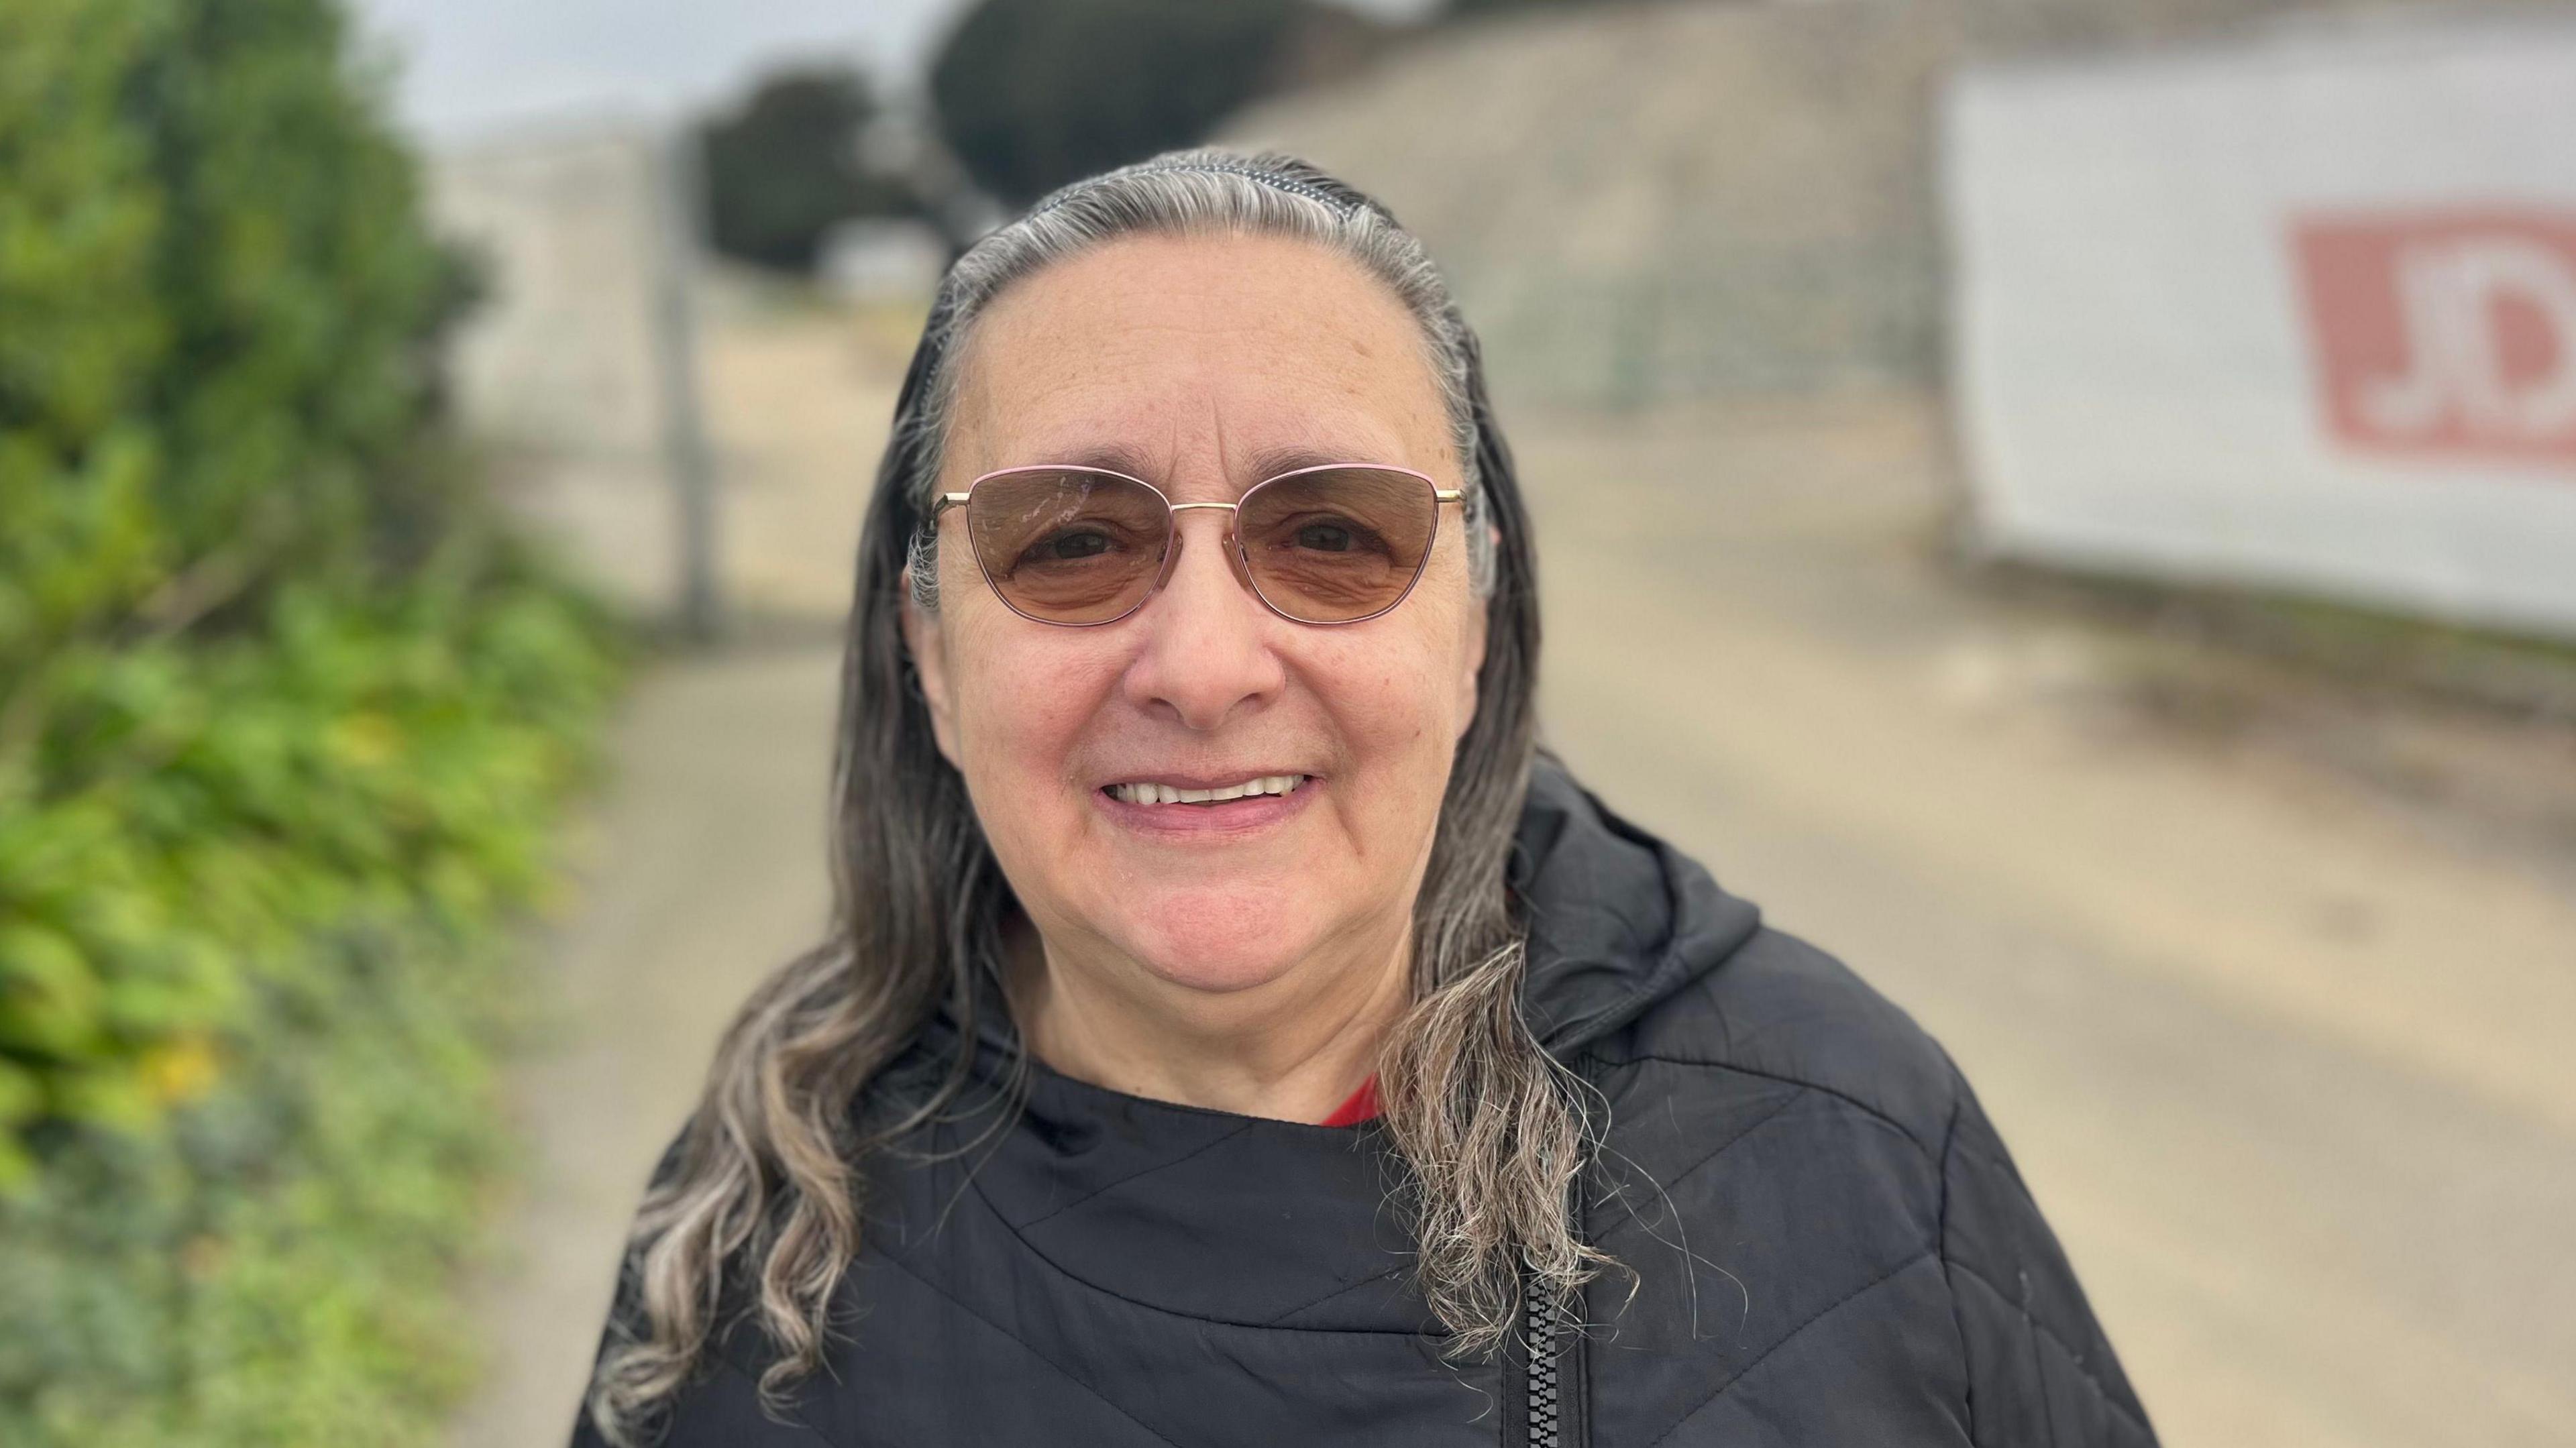
[[[966,252],[835,930],[662,1162],[577,1443],[2154,1443],[1950,1059],[1538,755],[1535,662],[1383,206],[1175,152]]]

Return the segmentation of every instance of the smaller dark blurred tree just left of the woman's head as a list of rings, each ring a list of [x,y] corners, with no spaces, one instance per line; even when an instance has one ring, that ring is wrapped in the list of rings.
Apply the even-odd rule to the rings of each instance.
[[[853,67],[783,70],[739,111],[706,124],[706,209],[719,252],[811,271],[835,222],[917,211],[902,180],[873,175],[860,134],[878,106]]]

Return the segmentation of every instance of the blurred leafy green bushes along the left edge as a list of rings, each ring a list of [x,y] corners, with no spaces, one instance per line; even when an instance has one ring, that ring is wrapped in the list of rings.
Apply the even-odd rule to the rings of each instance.
[[[0,5],[0,1443],[425,1443],[616,631],[327,0]]]

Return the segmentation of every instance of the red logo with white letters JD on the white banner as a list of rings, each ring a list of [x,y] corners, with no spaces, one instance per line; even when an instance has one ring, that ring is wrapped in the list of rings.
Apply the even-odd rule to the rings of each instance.
[[[2336,216],[2293,234],[2336,441],[2576,461],[2576,216]]]

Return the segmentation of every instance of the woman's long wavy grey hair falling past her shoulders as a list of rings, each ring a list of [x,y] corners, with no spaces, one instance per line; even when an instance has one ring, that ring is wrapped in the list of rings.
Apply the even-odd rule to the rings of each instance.
[[[1383,281],[1422,325],[1468,490],[1486,654],[1414,902],[1412,1005],[1378,1056],[1414,1270],[1445,1353],[1494,1353],[1525,1291],[1566,1293],[1607,1265],[1574,1234],[1569,1206],[1597,1121],[1520,1015],[1522,928],[1504,861],[1535,750],[1538,590],[1476,335],[1422,242],[1378,201],[1283,155],[1170,152],[1056,191],[940,283],[858,549],[832,765],[832,930],[742,1007],[644,1196],[590,1386],[611,1443],[649,1435],[724,1327],[719,1304],[757,1317],[773,1404],[822,1363],[827,1306],[858,1255],[866,1165],[969,1082],[976,974],[997,969],[1015,902],[966,783],[933,742],[899,626],[907,575],[914,600],[938,605],[930,502],[966,335],[997,294],[1056,260],[1121,234],[1211,232],[1309,240]],[[963,1031],[938,1090],[860,1126],[853,1103],[940,1005]]]

